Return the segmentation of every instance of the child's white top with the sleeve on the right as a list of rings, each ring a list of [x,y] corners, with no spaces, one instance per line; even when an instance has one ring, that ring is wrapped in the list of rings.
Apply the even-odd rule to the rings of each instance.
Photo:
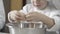
[[[52,10],[51,10],[52,9]],[[55,20],[55,25],[51,29],[47,29],[48,31],[58,31],[60,29],[60,11],[55,10],[54,8],[47,7],[44,10],[38,10],[33,7],[31,4],[27,4],[23,7],[22,11],[25,14],[31,12],[32,10],[38,11],[46,16],[53,18]]]

